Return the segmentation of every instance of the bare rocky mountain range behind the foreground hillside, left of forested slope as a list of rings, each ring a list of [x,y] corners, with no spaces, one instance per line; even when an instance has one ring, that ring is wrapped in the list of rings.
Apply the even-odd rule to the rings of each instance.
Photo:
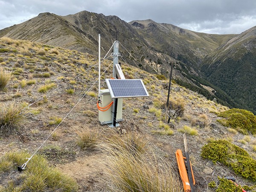
[[[174,63],[173,76],[177,82],[208,99],[217,98],[222,104],[234,106],[222,90],[212,94],[209,90],[217,90],[218,87],[198,77],[198,65],[204,56],[233,35],[197,33],[152,20],[129,24],[116,16],[82,11],[67,16],[41,13],[24,23],[1,30],[0,37],[26,39],[97,55],[99,33],[102,37],[102,57],[117,36],[125,47],[120,46],[121,61],[165,76],[169,75],[170,64]]]

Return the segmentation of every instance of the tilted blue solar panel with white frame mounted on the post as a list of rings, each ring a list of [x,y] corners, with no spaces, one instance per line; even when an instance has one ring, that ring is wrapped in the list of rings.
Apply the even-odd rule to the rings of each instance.
[[[112,99],[149,96],[141,79],[106,79],[106,82]]]

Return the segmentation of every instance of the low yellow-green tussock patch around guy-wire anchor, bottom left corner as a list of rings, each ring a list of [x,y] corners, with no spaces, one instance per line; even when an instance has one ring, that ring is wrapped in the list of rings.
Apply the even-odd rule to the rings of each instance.
[[[21,166],[26,157],[26,152],[8,152],[0,158],[0,174],[9,175],[17,172],[17,166]],[[18,183],[18,184],[17,184]],[[4,182],[0,192],[21,191],[62,191],[76,192],[78,185],[71,177],[61,174],[57,169],[49,167],[48,162],[42,156],[35,155],[29,161],[22,174],[10,177]]]

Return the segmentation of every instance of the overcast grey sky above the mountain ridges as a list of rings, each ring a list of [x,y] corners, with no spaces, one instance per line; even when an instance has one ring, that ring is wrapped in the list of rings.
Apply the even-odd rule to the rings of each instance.
[[[239,34],[256,26],[256,0],[0,0],[0,29],[41,12],[70,15],[84,10],[214,34]]]

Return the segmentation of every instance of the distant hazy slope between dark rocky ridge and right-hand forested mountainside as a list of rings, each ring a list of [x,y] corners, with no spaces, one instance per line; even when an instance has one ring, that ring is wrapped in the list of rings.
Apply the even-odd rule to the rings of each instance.
[[[201,60],[234,35],[212,35],[182,29],[153,20],[129,22],[149,44],[173,58],[195,68]]]

